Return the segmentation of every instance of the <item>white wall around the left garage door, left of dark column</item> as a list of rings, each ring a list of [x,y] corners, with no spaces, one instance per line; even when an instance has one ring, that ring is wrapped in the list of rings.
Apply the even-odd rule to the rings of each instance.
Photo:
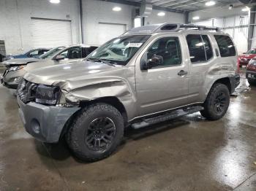
[[[80,43],[78,0],[0,0],[0,39],[5,41],[7,54],[31,49],[31,17],[71,20],[72,43]]]

